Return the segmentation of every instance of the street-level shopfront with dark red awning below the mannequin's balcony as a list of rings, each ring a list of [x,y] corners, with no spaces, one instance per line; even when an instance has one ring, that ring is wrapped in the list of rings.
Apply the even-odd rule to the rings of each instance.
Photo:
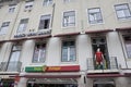
[[[87,74],[87,79],[92,80],[90,87],[128,87],[127,76],[120,73],[94,73]]]

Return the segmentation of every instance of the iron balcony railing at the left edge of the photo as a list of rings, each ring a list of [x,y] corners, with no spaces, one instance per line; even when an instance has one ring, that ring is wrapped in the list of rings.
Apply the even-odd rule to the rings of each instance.
[[[0,72],[21,72],[22,62],[1,62]]]

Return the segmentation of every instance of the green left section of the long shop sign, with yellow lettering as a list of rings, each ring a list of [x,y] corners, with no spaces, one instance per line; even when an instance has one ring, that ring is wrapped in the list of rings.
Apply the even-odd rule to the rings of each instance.
[[[44,65],[44,66],[26,66],[25,67],[25,72],[45,72],[46,71],[46,65]]]

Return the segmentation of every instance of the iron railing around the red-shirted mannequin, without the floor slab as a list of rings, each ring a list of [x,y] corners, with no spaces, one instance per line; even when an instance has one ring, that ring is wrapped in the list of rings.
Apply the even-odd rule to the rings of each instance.
[[[93,58],[87,58],[87,70],[115,70],[118,69],[117,57],[105,59],[102,64],[97,64]]]

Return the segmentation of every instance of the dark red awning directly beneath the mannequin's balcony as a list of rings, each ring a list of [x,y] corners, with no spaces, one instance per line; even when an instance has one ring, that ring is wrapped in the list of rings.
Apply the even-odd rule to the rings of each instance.
[[[97,77],[121,77],[123,75],[117,74],[87,74],[88,78],[97,78]]]

